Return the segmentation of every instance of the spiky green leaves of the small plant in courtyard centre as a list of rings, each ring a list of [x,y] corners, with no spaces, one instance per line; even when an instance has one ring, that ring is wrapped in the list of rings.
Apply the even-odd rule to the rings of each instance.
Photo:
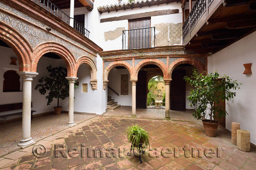
[[[128,127],[125,132],[127,132],[127,139],[132,144],[132,147],[139,148],[139,144],[142,144],[143,148],[150,146],[148,132],[138,124]]]

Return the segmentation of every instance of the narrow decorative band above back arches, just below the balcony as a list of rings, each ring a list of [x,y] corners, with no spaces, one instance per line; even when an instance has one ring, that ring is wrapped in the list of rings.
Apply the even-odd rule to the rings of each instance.
[[[104,56],[102,59],[116,59],[122,57],[140,57],[140,56],[157,56],[157,55],[184,55],[184,54],[191,54],[189,51],[168,51],[168,52],[143,52],[143,53],[128,53],[122,55],[111,55],[111,56]]]

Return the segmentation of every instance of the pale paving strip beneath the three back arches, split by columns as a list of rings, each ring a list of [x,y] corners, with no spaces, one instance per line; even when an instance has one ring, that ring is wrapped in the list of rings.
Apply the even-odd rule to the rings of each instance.
[[[138,118],[157,118],[164,119],[165,117],[164,109],[136,109],[136,114]],[[131,117],[132,108],[131,106],[121,106],[114,111],[106,111],[104,115],[115,116],[115,117]],[[170,111],[170,117],[172,120],[182,120],[182,121],[197,121],[193,117],[193,111]],[[198,122],[198,121],[197,121]]]

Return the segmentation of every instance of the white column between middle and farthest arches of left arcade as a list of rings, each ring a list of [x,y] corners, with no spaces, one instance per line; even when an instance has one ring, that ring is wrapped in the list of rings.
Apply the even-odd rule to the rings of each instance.
[[[74,122],[74,90],[77,77],[66,77],[69,81],[68,126],[76,125]]]

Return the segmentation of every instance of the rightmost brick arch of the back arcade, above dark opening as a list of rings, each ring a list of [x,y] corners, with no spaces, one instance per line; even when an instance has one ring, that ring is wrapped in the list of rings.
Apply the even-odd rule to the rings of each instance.
[[[200,61],[193,58],[181,58],[181,59],[175,60],[174,62],[172,62],[172,64],[170,64],[169,73],[171,77],[172,77],[173,69],[175,69],[175,67],[179,66],[180,64],[191,64],[192,66],[195,66],[200,73],[203,73],[205,71],[205,66]]]

